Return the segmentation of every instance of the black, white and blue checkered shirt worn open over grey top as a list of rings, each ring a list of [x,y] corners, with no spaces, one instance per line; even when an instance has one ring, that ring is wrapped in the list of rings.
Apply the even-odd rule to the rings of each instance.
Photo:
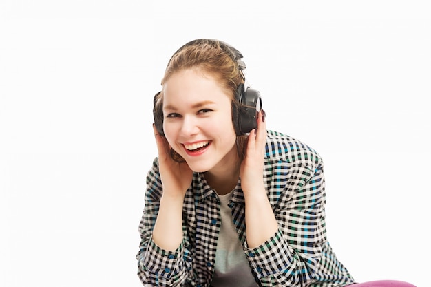
[[[259,286],[346,286],[353,277],[326,240],[325,181],[319,154],[284,134],[268,131],[264,185],[279,228],[257,248],[246,245],[245,201],[238,181],[229,207],[238,237]],[[147,174],[138,276],[145,286],[211,286],[220,231],[220,201],[202,173],[193,173],[185,194],[176,251],[151,240],[162,184],[158,158]]]

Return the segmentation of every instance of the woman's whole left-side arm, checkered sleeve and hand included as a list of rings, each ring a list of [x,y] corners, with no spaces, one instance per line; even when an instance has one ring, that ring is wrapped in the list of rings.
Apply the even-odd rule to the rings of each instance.
[[[171,160],[165,138],[157,135],[156,142],[159,156],[147,174],[145,210],[139,225],[138,276],[144,285],[180,286],[187,278],[182,201],[192,172],[187,164]]]

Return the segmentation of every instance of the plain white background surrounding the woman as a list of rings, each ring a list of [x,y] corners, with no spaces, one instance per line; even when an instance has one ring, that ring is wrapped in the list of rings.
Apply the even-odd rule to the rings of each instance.
[[[427,1],[148,2],[0,1],[0,286],[141,286],[152,98],[196,38],[238,48],[269,129],[324,158],[355,279],[429,286]]]

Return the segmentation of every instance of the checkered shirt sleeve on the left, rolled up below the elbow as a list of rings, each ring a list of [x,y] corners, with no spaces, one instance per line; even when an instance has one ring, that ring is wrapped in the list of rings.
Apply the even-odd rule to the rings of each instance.
[[[181,286],[187,277],[187,268],[182,259],[184,244],[176,251],[166,251],[152,241],[152,231],[158,215],[162,184],[158,175],[158,160],[147,173],[145,209],[138,231],[141,241],[138,260],[138,277],[144,286]]]

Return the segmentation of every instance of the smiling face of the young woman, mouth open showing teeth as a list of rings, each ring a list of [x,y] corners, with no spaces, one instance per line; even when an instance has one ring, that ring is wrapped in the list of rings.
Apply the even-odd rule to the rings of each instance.
[[[227,89],[200,70],[180,70],[165,81],[163,130],[169,145],[193,171],[238,162],[231,103]]]

